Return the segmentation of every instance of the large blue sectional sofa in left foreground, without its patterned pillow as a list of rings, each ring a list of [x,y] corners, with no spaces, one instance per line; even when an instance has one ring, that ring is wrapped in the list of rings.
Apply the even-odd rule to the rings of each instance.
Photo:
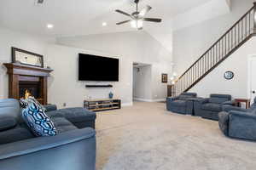
[[[0,99],[0,169],[94,170],[96,114],[84,108],[46,106],[58,134],[35,137],[20,118],[16,99]]]

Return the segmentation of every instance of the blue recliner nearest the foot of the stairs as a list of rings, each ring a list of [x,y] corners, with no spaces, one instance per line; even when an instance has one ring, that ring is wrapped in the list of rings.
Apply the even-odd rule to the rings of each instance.
[[[175,113],[192,115],[193,112],[193,101],[189,101],[191,98],[195,98],[195,93],[183,93],[177,97],[166,99],[167,111]]]

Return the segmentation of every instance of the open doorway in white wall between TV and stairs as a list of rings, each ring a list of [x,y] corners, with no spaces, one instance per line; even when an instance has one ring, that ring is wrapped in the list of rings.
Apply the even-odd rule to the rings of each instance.
[[[133,101],[150,102],[152,100],[151,79],[152,65],[133,63]]]

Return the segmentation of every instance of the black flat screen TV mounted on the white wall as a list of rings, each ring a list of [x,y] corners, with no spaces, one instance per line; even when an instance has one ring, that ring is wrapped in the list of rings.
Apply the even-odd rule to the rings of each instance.
[[[119,81],[119,59],[79,54],[79,81]]]

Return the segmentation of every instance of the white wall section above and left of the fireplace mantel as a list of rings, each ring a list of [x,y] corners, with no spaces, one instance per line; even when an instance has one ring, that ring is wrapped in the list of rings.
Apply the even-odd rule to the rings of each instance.
[[[0,27],[0,99],[8,98],[9,79],[3,63],[11,62],[11,47],[44,55],[47,43],[53,41],[51,38],[27,35]]]

